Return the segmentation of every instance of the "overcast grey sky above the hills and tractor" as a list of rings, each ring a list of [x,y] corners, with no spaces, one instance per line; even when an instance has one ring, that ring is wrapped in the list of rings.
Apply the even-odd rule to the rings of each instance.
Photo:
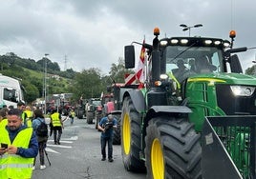
[[[64,70],[98,68],[108,74],[133,41],[191,36],[228,39],[236,30],[234,47],[256,47],[256,0],[0,0],[0,54],[48,58]],[[140,47],[136,47],[139,51]],[[240,54],[243,69],[252,66],[256,50]],[[66,55],[66,63],[65,63]],[[139,57],[139,54],[137,54]],[[66,64],[66,66],[65,66]]]

